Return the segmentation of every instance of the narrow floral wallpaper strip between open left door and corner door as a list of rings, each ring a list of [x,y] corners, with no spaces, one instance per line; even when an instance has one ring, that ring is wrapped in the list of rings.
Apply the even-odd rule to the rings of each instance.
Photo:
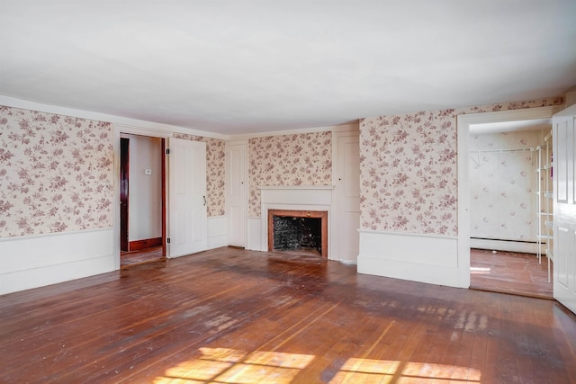
[[[225,144],[219,138],[204,138],[202,136],[175,133],[175,138],[202,141],[206,143],[206,200],[208,216],[225,214]]]

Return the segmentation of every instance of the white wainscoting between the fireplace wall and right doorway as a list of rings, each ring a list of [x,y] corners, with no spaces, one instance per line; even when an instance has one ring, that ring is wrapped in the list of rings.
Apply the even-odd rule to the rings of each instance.
[[[466,271],[463,271],[467,269]],[[468,288],[458,265],[457,237],[360,231],[358,272],[396,279]]]

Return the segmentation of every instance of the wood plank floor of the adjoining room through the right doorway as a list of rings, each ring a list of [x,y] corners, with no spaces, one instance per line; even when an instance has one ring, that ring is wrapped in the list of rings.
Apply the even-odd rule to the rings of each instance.
[[[541,299],[554,299],[551,281],[548,281],[548,259],[542,263],[533,254],[483,249],[470,250],[470,287],[501,293],[523,295]]]

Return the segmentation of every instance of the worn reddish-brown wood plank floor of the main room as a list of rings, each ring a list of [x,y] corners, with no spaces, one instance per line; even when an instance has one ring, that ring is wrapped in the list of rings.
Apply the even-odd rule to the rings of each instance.
[[[224,247],[0,296],[2,383],[571,383],[554,300]]]

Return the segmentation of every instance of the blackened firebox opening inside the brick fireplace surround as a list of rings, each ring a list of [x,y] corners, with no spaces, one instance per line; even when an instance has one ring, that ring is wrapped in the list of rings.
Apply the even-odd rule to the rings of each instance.
[[[320,218],[273,216],[274,249],[322,252],[322,221]]]

